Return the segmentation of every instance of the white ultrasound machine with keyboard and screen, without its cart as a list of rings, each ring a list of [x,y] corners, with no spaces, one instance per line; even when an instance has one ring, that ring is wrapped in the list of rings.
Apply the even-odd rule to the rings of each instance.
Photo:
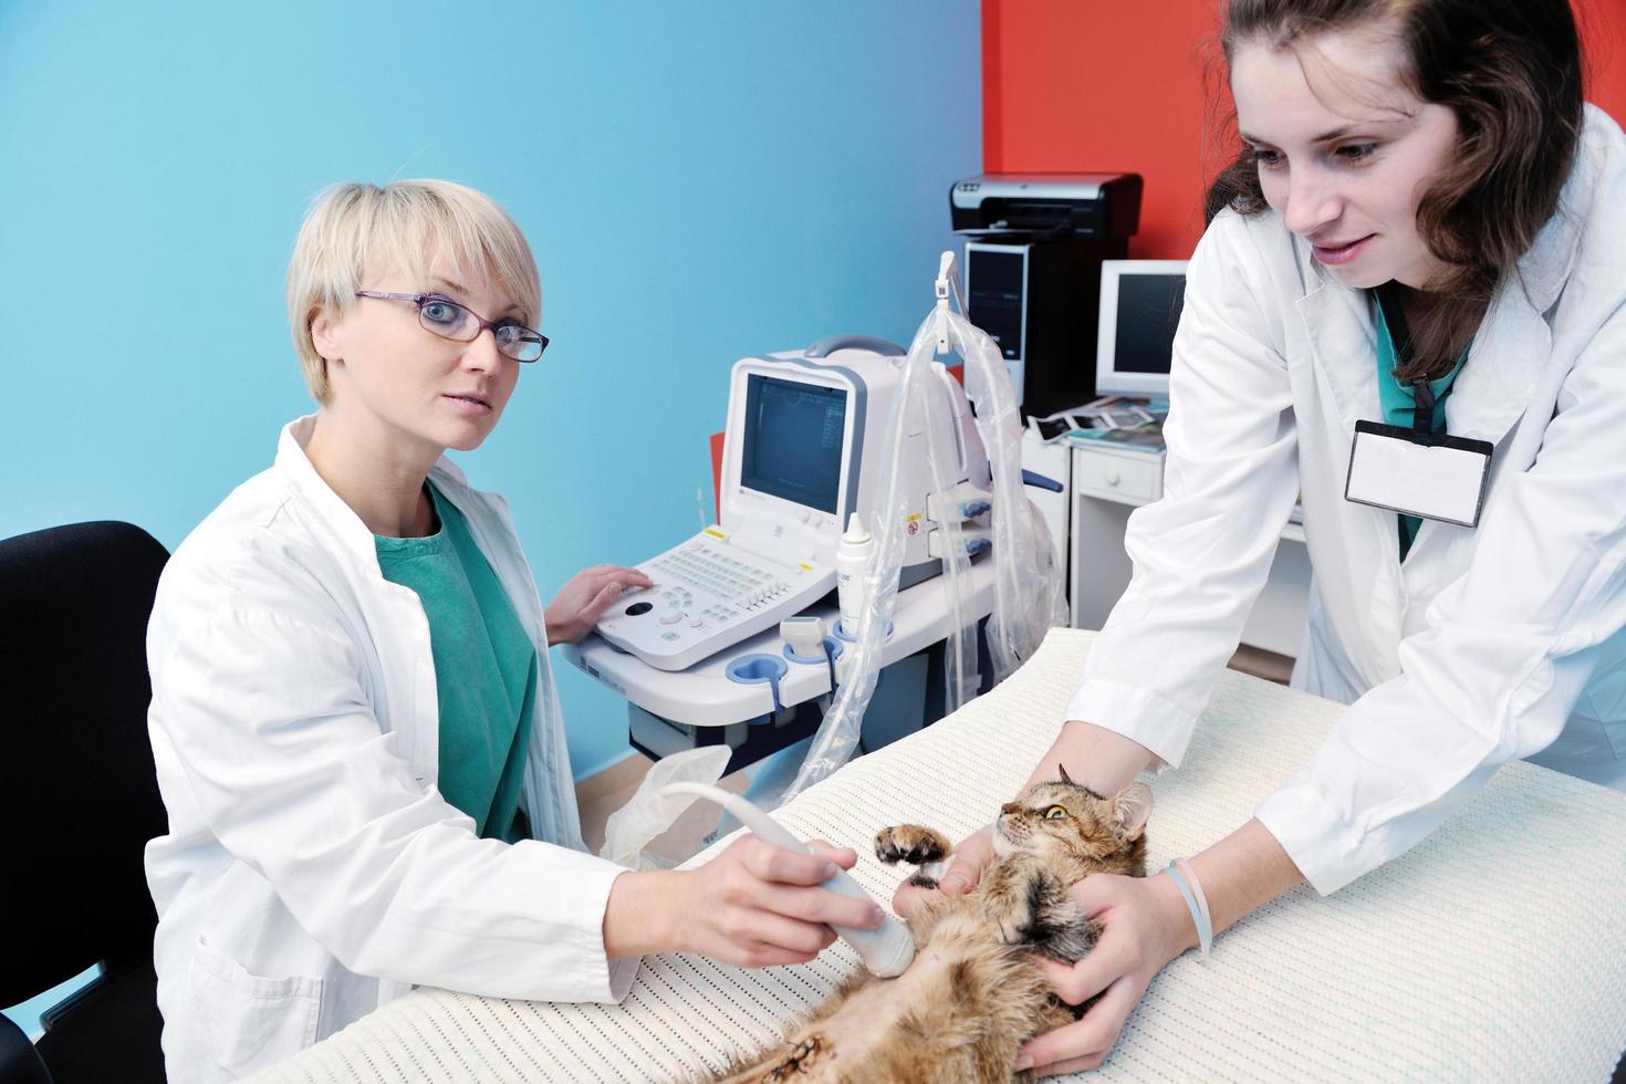
[[[657,670],[686,670],[829,593],[836,544],[854,512],[875,522],[881,439],[902,377],[902,348],[842,336],[806,351],[745,358],[733,366],[724,432],[720,523],[637,567],[655,587],[624,595],[597,632]],[[933,424],[951,431],[967,494],[987,491],[987,458],[966,395],[935,367],[943,403]],[[935,520],[925,434],[906,457],[915,530],[901,587],[927,579]],[[976,538],[976,527],[963,528]]]

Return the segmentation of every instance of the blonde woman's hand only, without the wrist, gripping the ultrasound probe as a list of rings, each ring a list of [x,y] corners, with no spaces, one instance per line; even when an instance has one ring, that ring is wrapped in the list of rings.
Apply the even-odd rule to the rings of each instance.
[[[805,964],[836,939],[828,923],[873,930],[881,908],[870,900],[818,887],[834,873],[850,869],[859,856],[810,842],[815,855],[776,847],[754,835],[699,869],[680,874],[676,899],[678,947],[724,964],[769,967]]]

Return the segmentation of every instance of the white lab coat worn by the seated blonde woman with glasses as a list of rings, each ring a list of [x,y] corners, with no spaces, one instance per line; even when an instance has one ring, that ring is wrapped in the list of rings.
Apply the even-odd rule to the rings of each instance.
[[[413,985],[618,1001],[620,866],[582,853],[543,611],[501,497],[441,460],[537,645],[524,806],[537,840],[475,837],[436,790],[439,712],[416,593],[289,424],[164,569],[148,627],[148,730],[169,834],[146,847],[174,1084],[233,1079]]]

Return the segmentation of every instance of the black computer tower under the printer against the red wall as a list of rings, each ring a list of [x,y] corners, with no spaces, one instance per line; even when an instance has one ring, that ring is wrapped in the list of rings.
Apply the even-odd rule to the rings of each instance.
[[[966,315],[998,345],[1023,414],[1096,397],[1101,262],[1127,255],[1127,237],[966,242]]]

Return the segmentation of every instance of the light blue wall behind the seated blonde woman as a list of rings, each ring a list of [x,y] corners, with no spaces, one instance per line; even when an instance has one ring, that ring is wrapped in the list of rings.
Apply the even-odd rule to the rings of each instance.
[[[980,167],[977,0],[0,3],[0,536],[174,548],[306,413],[283,273],[311,195],[449,177],[527,231],[546,361],[475,484],[543,592],[709,505],[740,356],[907,343]],[[556,658],[577,777],[620,700]]]

